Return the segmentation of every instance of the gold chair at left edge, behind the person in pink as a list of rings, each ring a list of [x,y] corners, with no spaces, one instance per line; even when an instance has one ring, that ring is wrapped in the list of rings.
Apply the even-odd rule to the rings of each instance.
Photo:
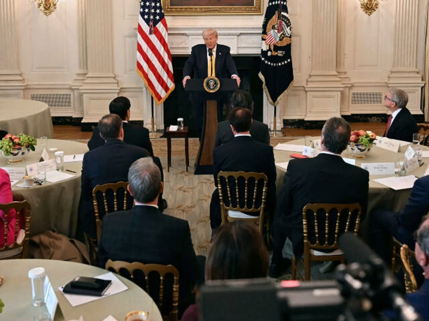
[[[16,211],[15,224],[15,241],[9,246],[8,240],[8,213],[11,209]],[[4,212],[5,223],[5,245],[0,248],[0,259],[4,258],[28,258],[29,240],[30,240],[30,221],[31,221],[31,206],[26,201],[15,201],[6,204],[0,204],[0,210]],[[24,220],[24,230],[20,231],[20,221]]]

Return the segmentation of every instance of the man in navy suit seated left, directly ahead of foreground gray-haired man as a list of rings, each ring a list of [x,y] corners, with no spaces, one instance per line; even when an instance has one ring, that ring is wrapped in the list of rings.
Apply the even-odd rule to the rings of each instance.
[[[147,156],[146,149],[123,142],[122,120],[118,115],[103,116],[98,123],[98,128],[106,143],[88,151],[83,156],[79,202],[79,219],[83,231],[94,239],[97,238],[93,204],[94,187],[127,181],[131,164],[136,159]],[[131,199],[130,201],[132,204]],[[121,202],[118,201],[118,203]],[[127,203],[130,204],[130,202]],[[109,206],[109,209],[113,210],[113,206]],[[104,208],[100,210],[100,219],[103,219],[103,216]]]

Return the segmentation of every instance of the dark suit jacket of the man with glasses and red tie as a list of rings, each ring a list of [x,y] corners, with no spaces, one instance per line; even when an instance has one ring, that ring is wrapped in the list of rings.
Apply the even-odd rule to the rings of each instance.
[[[384,132],[383,137],[412,142],[413,133],[417,132],[418,127],[413,115],[404,107],[393,120],[388,135]]]

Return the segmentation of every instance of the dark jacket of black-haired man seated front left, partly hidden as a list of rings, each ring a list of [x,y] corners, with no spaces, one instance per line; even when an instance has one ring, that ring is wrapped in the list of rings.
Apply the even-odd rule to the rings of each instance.
[[[130,145],[140,146],[148,150],[153,156],[152,143],[149,138],[149,130],[144,127],[137,127],[128,123],[122,122],[123,127],[123,141]],[[103,146],[104,139],[100,136],[98,127],[94,128],[93,136],[88,142],[88,148],[90,150]]]

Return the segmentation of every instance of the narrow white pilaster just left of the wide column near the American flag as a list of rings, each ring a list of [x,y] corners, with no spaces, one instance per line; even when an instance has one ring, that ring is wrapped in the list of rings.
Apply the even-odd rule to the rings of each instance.
[[[86,79],[85,75],[88,73],[86,3],[87,0],[77,1],[77,59],[79,69],[71,85],[74,96],[73,117],[83,117],[83,96],[80,92],[80,87],[82,86],[83,81]]]

